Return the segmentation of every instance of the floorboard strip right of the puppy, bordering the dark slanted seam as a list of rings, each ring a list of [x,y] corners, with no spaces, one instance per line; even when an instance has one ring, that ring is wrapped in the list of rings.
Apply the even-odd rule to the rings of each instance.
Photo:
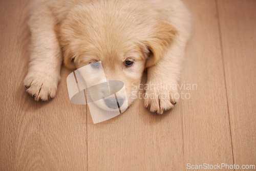
[[[182,81],[197,83],[198,90],[190,91],[191,98],[183,100],[180,109],[184,160],[191,164],[233,164],[216,3],[188,0],[186,4],[193,14],[194,33]]]

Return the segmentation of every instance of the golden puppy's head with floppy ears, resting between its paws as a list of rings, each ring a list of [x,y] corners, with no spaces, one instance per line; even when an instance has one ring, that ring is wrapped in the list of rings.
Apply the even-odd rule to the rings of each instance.
[[[65,65],[77,69],[101,61],[106,79],[124,82],[129,105],[144,69],[157,63],[176,34],[140,1],[78,5],[57,32]],[[97,79],[97,75],[90,77]]]

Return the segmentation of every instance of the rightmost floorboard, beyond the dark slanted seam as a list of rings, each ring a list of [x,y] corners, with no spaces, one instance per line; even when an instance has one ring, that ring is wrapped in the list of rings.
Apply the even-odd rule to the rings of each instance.
[[[256,163],[256,1],[218,1],[234,163]]]

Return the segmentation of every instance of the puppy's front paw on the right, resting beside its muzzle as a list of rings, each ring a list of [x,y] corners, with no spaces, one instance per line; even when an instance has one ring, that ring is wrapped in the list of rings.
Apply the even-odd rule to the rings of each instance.
[[[157,84],[148,84],[144,96],[144,106],[151,112],[162,114],[164,111],[174,108],[178,100],[178,91],[167,85],[156,87]]]

